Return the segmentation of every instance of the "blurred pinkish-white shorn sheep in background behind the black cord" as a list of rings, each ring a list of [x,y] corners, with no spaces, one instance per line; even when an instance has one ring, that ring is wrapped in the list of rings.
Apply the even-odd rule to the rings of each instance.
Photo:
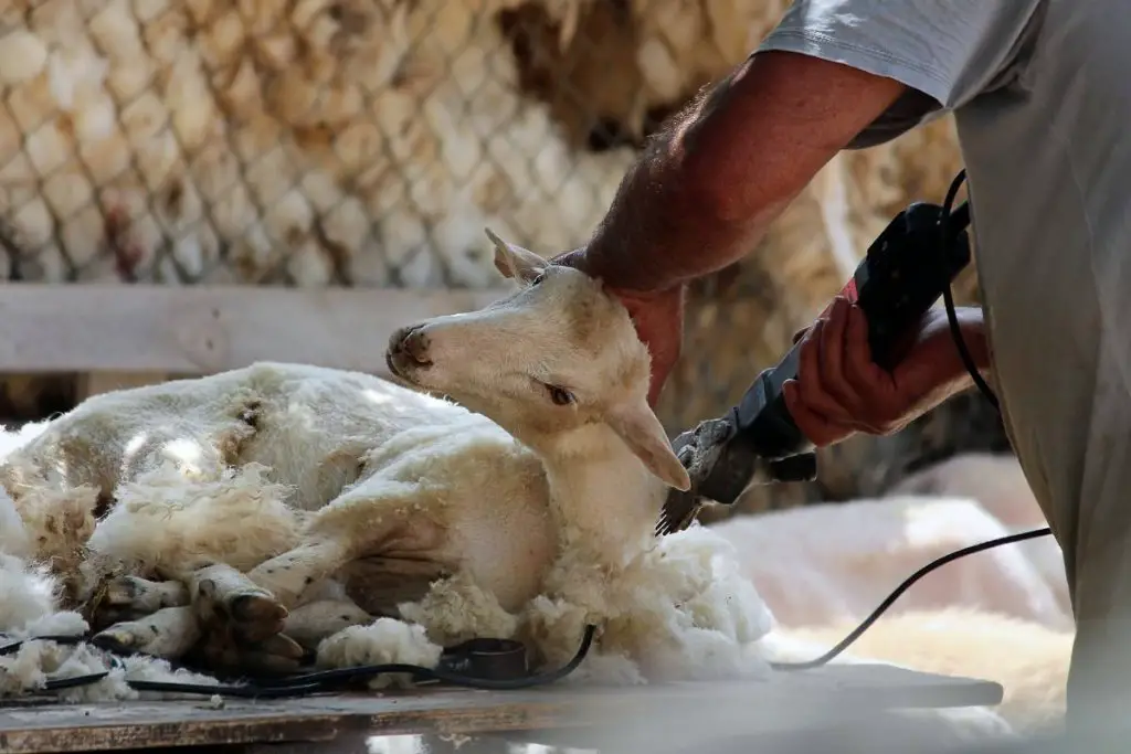
[[[976,500],[891,495],[735,515],[709,525],[784,626],[862,621],[899,583],[953,551],[1007,536]],[[948,563],[889,613],[967,606],[1068,630],[1071,613],[1020,543]]]

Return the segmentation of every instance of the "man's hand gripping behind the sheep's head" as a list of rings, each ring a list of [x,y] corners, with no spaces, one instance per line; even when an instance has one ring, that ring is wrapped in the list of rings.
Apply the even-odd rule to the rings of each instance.
[[[554,265],[572,267],[582,272],[586,269],[585,250],[559,254],[550,260]],[[667,375],[680,361],[680,347],[683,341],[683,296],[687,286],[676,286],[658,293],[640,293],[619,291],[606,286],[608,293],[616,296],[624,309],[629,310],[637,335],[651,355],[651,382],[648,388],[648,405],[653,408],[659,402],[659,392],[664,388]]]

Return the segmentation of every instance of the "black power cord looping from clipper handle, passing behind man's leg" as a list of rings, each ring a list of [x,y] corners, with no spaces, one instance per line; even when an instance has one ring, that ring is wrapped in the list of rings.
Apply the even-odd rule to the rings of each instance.
[[[958,313],[955,311],[955,296],[950,289],[950,277],[947,275],[946,267],[946,244],[955,243],[959,234],[966,229],[970,224],[970,208],[969,203],[964,201],[957,209],[953,208],[955,199],[958,197],[958,190],[961,188],[962,183],[966,181],[966,171],[959,171],[958,175],[950,183],[950,189],[947,191],[947,198],[942,203],[942,211],[939,216],[940,227],[940,248],[936,258],[939,259],[939,270],[942,275],[943,287],[942,287],[942,301],[947,310],[947,320],[950,323],[950,333],[955,338],[955,346],[958,348],[958,355],[962,359],[962,364],[966,366],[966,371],[970,373],[970,379],[974,380],[974,384],[977,385],[978,390],[985,397],[986,400],[1001,414],[1001,407],[998,405],[998,397],[993,395],[993,390],[986,384],[985,380],[982,379],[982,374],[978,372],[977,365],[974,363],[974,358],[970,356],[969,349],[966,347],[966,339],[962,337],[962,330],[958,326]],[[935,569],[939,569],[947,563],[957,561],[959,557],[966,557],[967,555],[974,555],[975,553],[981,553],[994,547],[1000,547],[1002,545],[1011,545],[1017,541],[1025,541],[1026,539],[1037,539],[1039,537],[1047,537],[1052,534],[1052,529],[1048,527],[1042,527],[1039,529],[1030,529],[1028,531],[1019,531],[1017,534],[1011,534],[1005,537],[998,537],[996,539],[988,539],[977,545],[970,545],[969,547],[964,547],[957,549],[952,553],[943,555],[942,557],[935,558],[921,567],[918,571],[905,579],[895,591],[892,591],[888,597],[880,603],[879,607],[872,610],[864,621],[856,626],[847,636],[840,640],[832,649],[827,651],[820,657],[808,660],[804,662],[771,662],[770,666],[777,670],[806,670],[811,668],[821,667],[828,664],[830,660],[836,658],[838,655],[848,649],[861,635],[867,631],[873,623],[875,623],[880,616],[882,616],[888,608],[890,608],[899,597],[907,591],[912,584],[931,573]]]

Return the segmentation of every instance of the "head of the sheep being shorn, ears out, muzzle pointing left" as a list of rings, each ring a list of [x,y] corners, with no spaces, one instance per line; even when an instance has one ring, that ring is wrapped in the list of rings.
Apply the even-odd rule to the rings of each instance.
[[[577,433],[603,425],[656,477],[687,489],[688,473],[648,406],[648,349],[624,306],[588,275],[487,235],[495,267],[519,289],[476,312],[400,328],[389,370],[543,453],[576,454]]]

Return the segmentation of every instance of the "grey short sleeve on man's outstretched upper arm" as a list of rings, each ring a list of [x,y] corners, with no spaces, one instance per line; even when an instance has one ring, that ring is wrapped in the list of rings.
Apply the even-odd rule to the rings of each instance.
[[[1044,2],[794,0],[758,52],[813,55],[914,89],[857,139],[877,144],[1013,80]]]

